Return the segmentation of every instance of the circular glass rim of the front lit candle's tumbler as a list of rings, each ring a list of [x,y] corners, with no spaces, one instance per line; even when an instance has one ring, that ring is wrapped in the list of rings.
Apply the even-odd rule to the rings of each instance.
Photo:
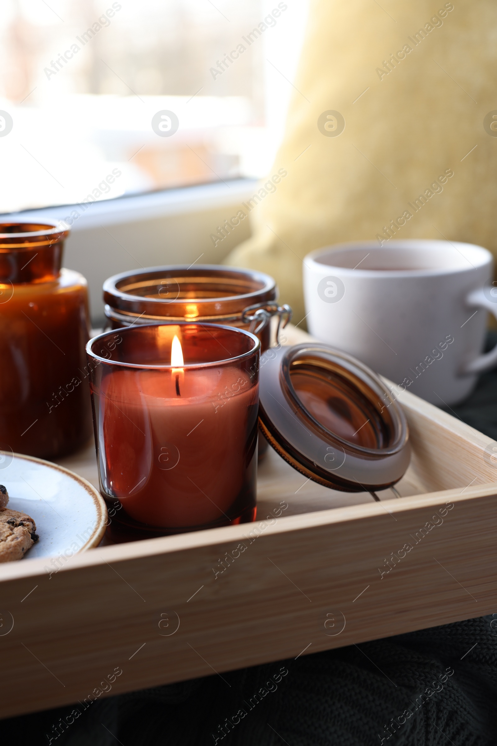
[[[244,334],[244,336],[250,337],[250,339],[253,340],[253,347],[248,350],[247,352],[244,352],[241,355],[237,355],[236,357],[227,357],[223,360],[213,360],[211,363],[183,363],[182,366],[171,366],[171,363],[168,365],[161,364],[161,365],[148,365],[147,363],[122,363],[118,360],[111,360],[108,357],[101,357],[100,355],[97,355],[95,352],[92,351],[91,345],[93,345],[94,342],[96,342],[98,339],[103,339],[104,337],[118,334],[121,332],[130,332],[130,330],[138,330],[138,329],[147,329],[148,327],[159,327],[159,326],[179,326],[179,327],[186,327],[186,326],[197,326],[197,327],[209,327],[212,329],[227,329],[231,332],[235,332],[238,334]],[[133,326],[128,327],[119,327],[118,329],[111,329],[109,331],[104,331],[101,334],[97,334],[97,336],[92,337],[92,339],[89,339],[88,342],[86,342],[86,354],[89,357],[92,357],[93,360],[98,360],[99,363],[107,363],[110,366],[120,366],[121,368],[130,368],[130,369],[138,369],[138,370],[178,370],[178,369],[187,369],[187,370],[194,370],[194,369],[205,369],[205,368],[215,368],[216,366],[220,365],[227,365],[229,363],[238,363],[240,360],[243,360],[245,357],[250,357],[251,355],[255,354],[256,352],[260,351],[261,349],[261,340],[259,337],[257,337],[255,334],[253,334],[250,331],[246,331],[245,329],[238,329],[237,327],[230,327],[225,326],[222,324],[203,324],[202,322],[166,322],[166,323],[156,323],[156,324],[140,324],[136,326],[133,329]]]

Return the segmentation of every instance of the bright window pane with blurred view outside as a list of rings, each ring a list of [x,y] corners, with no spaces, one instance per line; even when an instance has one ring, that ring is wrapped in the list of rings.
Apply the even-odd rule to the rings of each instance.
[[[2,0],[0,212],[259,177],[301,0]]]

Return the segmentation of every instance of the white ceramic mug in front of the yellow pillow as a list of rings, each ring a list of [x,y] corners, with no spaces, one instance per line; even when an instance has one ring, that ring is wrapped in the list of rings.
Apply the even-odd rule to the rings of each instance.
[[[456,404],[477,373],[487,310],[497,318],[490,251],[432,240],[358,241],[304,259],[310,333],[432,404]]]

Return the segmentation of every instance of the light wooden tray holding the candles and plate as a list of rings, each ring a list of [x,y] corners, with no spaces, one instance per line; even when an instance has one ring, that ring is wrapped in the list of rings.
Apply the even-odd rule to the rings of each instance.
[[[1,565],[0,717],[496,611],[493,441],[400,401],[403,499],[333,492],[270,450],[256,524],[103,546],[51,575],[43,560]],[[61,463],[96,483],[91,445]]]

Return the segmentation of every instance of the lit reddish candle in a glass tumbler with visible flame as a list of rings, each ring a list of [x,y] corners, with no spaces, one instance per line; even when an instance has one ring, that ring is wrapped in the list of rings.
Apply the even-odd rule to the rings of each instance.
[[[179,533],[255,520],[260,346],[244,330],[188,323],[88,343],[101,492],[116,521]]]

